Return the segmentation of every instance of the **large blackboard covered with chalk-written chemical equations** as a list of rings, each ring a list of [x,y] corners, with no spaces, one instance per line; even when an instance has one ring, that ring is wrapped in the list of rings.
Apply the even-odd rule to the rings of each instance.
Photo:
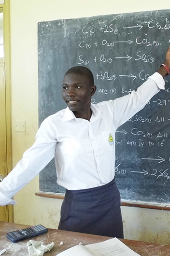
[[[66,108],[65,72],[86,66],[97,92],[92,102],[136,90],[164,62],[170,10],[112,14],[38,23],[39,123]],[[116,131],[115,178],[122,200],[170,204],[170,76],[166,90]],[[52,161],[40,191],[64,193]]]

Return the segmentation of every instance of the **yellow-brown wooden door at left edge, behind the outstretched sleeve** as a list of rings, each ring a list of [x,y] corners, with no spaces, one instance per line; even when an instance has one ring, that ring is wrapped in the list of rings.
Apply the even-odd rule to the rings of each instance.
[[[7,175],[5,62],[0,62],[0,175]],[[8,221],[8,206],[0,206],[0,221]]]

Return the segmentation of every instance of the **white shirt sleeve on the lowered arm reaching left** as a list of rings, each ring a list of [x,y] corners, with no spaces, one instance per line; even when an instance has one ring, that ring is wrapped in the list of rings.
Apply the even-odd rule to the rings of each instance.
[[[0,182],[0,205],[16,204],[11,199],[16,192],[28,184],[55,156],[57,140],[42,123],[36,141],[23,155],[13,171]]]

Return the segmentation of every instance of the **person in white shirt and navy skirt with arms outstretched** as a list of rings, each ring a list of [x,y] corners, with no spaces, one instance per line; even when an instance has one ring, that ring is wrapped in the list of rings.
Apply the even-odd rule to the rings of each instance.
[[[66,188],[58,228],[123,238],[115,131],[164,89],[170,48],[162,65],[136,92],[96,105],[91,104],[96,91],[91,71],[80,66],[67,71],[62,97],[68,108],[42,122],[36,142],[0,183],[0,205],[15,204],[14,194],[55,157],[57,183]]]

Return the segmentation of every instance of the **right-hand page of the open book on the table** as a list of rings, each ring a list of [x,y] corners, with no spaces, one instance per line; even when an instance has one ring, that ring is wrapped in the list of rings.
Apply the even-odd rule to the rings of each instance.
[[[88,244],[85,245],[85,248],[88,249],[93,256],[140,256],[117,238]]]

